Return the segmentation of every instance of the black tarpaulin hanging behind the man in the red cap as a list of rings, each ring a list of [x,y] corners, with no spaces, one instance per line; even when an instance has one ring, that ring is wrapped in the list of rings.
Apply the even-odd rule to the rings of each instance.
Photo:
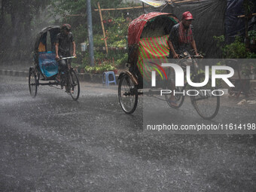
[[[221,55],[213,36],[224,35],[224,14],[227,2],[225,0],[205,0],[181,5],[167,5],[164,12],[175,14],[181,19],[185,11],[190,11],[194,17],[194,39],[197,50],[204,53],[206,58],[215,58]]]

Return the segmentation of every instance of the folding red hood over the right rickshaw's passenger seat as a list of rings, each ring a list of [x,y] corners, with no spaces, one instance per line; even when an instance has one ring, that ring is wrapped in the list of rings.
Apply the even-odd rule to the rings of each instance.
[[[152,20],[154,17],[160,16],[170,17],[175,21],[175,23],[178,23],[178,19],[173,14],[156,12],[142,14],[140,17],[133,20],[128,27],[128,45],[138,44],[145,24],[148,23],[149,20]]]

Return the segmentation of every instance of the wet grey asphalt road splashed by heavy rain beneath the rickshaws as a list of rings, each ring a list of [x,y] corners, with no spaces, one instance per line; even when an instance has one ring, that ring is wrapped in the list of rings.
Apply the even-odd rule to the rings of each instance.
[[[142,131],[142,106],[126,115],[117,91],[81,84],[63,90],[0,76],[0,191],[254,191],[251,135],[154,135]],[[142,103],[142,102],[140,102]],[[173,112],[182,119],[191,106]],[[254,106],[226,101],[216,122],[255,119]]]

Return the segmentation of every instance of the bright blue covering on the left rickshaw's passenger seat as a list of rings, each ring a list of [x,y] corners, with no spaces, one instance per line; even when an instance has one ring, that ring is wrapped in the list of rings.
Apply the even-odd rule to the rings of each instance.
[[[39,52],[38,61],[41,72],[47,77],[51,77],[58,73],[58,63],[56,62],[55,53],[51,51]]]

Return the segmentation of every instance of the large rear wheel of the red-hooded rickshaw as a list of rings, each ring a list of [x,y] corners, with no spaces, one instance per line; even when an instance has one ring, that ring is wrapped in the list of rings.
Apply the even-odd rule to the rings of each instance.
[[[118,99],[126,114],[132,114],[138,103],[138,89],[129,75],[123,75],[118,84]]]

